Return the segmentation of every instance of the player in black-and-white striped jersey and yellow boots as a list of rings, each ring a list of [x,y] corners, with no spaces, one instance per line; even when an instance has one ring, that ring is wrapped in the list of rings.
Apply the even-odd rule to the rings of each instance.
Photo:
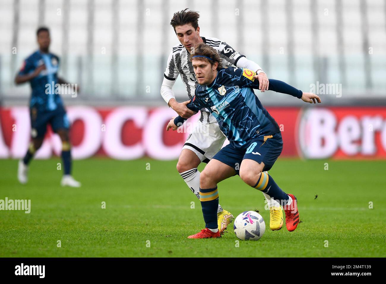
[[[235,51],[224,41],[215,37],[200,37],[198,18],[200,15],[188,9],[174,13],[171,26],[181,44],[173,46],[169,54],[168,63],[164,73],[164,80],[161,86],[161,95],[166,103],[179,116],[188,118],[195,114],[186,107],[191,97],[195,94],[197,86],[193,65],[190,61],[191,48],[197,43],[205,43],[218,51],[222,58],[224,68],[234,65],[256,71],[255,78],[259,80],[261,92],[268,90],[269,81],[261,67],[244,55]],[[186,87],[189,100],[178,103],[175,99],[173,86],[176,78],[180,75]],[[200,172],[197,170],[201,162],[208,163],[209,160],[221,149],[225,136],[221,132],[216,119],[207,109],[201,109],[201,116],[197,121],[196,129],[188,136],[181,154],[178,158],[177,170],[184,179],[190,190],[198,197],[200,194]],[[269,205],[271,230],[279,230],[283,225],[283,213],[278,202],[264,194]],[[232,214],[218,205],[217,221],[220,233],[227,228],[234,217]]]

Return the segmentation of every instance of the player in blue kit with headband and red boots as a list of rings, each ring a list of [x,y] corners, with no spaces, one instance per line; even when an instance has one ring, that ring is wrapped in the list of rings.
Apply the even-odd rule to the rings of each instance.
[[[234,176],[251,187],[269,194],[284,208],[286,227],[294,231],[299,224],[297,199],[286,194],[266,171],[270,170],[283,149],[276,121],[252,91],[259,88],[256,73],[245,68],[220,68],[221,58],[212,47],[199,43],[192,54],[198,86],[186,106],[198,112],[206,107],[216,118],[229,145],[215,154],[200,176],[200,201],[205,229],[188,238],[218,238],[218,182]],[[321,102],[312,93],[303,93],[290,85],[269,79],[269,90],[289,94],[305,102]],[[186,119],[172,119],[168,126],[176,130]],[[239,170],[237,165],[240,165]]]

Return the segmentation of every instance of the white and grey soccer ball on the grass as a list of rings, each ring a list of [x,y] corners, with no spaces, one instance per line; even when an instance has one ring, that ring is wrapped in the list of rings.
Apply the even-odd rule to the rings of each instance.
[[[236,217],[233,228],[240,240],[257,241],[265,232],[265,223],[259,213],[244,211]]]

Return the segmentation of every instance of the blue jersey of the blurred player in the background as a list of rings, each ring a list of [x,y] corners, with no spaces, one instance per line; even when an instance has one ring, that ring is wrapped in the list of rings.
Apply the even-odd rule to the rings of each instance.
[[[46,65],[46,69],[30,80],[32,88],[30,107],[36,107],[39,111],[53,111],[58,106],[63,106],[60,96],[55,94],[55,84],[58,83],[59,57],[52,53],[36,51],[24,60],[19,75],[33,73],[42,64]]]

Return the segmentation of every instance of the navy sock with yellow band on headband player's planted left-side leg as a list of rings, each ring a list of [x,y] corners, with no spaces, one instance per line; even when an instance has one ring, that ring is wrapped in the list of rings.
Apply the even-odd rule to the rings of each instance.
[[[210,189],[200,187],[200,201],[204,216],[205,228],[217,229],[218,192],[217,186]]]

